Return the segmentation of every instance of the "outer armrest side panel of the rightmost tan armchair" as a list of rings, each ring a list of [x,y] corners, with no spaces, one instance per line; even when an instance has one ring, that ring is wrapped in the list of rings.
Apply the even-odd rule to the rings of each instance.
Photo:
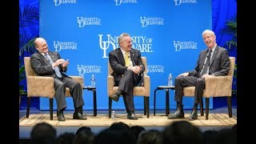
[[[206,98],[214,96],[231,96],[232,81],[231,76],[218,76],[205,78],[206,88],[204,96]]]

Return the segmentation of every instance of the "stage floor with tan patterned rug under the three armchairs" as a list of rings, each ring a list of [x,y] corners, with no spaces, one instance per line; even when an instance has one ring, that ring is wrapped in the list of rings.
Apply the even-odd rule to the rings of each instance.
[[[84,110],[87,120],[74,120],[72,119],[72,114],[74,110],[65,110],[65,122],[59,122],[57,120],[56,111],[54,111],[54,120],[50,121],[50,112],[38,110],[37,108],[30,107],[30,117],[26,118],[26,107],[22,107],[19,110],[19,138],[28,139],[30,138],[30,131],[32,130],[34,124],[38,122],[49,122],[53,125],[57,134],[63,134],[64,132],[75,133],[81,126],[90,126],[94,134],[98,134],[100,131],[106,129],[113,122],[125,122],[129,126],[143,126],[146,130],[164,130],[166,125],[170,122],[186,120],[188,121],[191,110],[184,110],[185,118],[170,120],[167,119],[165,115],[165,110],[156,110],[156,115],[154,116],[153,110],[150,110],[150,118],[146,118],[143,114],[143,110],[136,110],[136,115],[138,120],[129,120],[126,118],[125,110],[115,110],[117,114],[117,119],[112,120],[108,118],[108,110],[98,110],[98,115],[93,116],[93,110]],[[170,113],[174,113],[175,110],[170,110]],[[228,117],[228,110],[226,106],[210,110],[209,119],[206,120],[205,116],[200,116],[198,110],[198,120],[190,121],[194,125],[198,126],[200,130],[220,130],[222,128],[229,128],[237,123],[237,108],[232,107],[233,117]]]

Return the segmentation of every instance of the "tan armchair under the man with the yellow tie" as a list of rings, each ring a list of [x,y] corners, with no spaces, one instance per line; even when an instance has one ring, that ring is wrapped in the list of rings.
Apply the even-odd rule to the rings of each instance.
[[[150,76],[147,75],[147,65],[146,57],[142,57],[142,62],[145,66],[144,71],[144,85],[143,86],[134,86],[134,96],[143,96],[144,97],[144,115],[147,118],[150,118]],[[112,98],[111,95],[115,94],[118,91],[118,86],[114,86],[114,77],[111,75],[113,70],[108,62],[108,76],[107,76],[107,94],[109,96],[109,118],[111,116],[112,110]]]

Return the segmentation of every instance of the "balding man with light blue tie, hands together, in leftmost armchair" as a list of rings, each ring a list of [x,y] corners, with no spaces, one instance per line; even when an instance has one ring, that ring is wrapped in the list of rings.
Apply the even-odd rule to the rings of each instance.
[[[65,62],[57,52],[48,51],[48,45],[44,38],[36,38],[34,45],[38,53],[30,56],[30,64],[36,74],[54,77],[58,121],[65,121],[63,111],[66,109],[66,87],[70,89],[70,94],[74,100],[75,112],[73,118],[86,120],[86,116],[82,115],[84,102],[80,83],[63,73],[66,72],[69,62]]]

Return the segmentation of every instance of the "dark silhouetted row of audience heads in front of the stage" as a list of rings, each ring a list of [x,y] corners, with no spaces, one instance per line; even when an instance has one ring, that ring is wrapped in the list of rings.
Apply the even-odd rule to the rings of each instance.
[[[94,134],[90,127],[82,126],[75,133],[56,135],[49,123],[36,124],[30,132],[30,144],[236,144],[237,124],[221,130],[202,132],[188,121],[174,121],[164,130],[146,130],[143,126],[128,126],[114,122],[105,130]]]

